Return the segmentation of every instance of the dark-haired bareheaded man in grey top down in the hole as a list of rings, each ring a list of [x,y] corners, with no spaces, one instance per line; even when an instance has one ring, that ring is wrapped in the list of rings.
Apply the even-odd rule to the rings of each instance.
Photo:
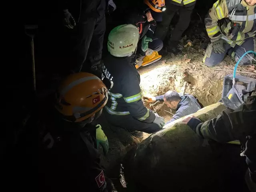
[[[174,116],[172,116],[172,119],[166,122],[166,124],[186,115],[193,114],[203,107],[194,96],[190,94],[181,96],[181,94],[178,94],[176,91],[168,91],[164,95],[156,97],[150,95],[144,97],[150,102],[164,101],[168,107],[176,111]]]

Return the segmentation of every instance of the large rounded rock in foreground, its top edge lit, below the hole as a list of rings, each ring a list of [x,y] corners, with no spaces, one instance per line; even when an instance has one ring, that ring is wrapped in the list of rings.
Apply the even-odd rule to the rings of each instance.
[[[224,109],[223,104],[216,103],[193,115],[206,121]],[[211,191],[213,187],[209,186],[221,183],[226,170],[220,165],[229,159],[220,158],[218,144],[209,145],[188,126],[180,124],[184,118],[152,134],[129,157],[126,175],[136,181],[139,191]]]

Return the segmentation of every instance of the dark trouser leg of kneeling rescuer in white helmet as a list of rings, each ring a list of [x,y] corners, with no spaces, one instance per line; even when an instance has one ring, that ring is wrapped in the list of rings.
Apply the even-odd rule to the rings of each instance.
[[[129,115],[111,115],[105,109],[103,113],[108,122],[116,127],[123,128],[128,132],[142,131],[145,133],[154,133],[162,128],[159,128],[155,123],[145,123],[140,120],[134,119]]]

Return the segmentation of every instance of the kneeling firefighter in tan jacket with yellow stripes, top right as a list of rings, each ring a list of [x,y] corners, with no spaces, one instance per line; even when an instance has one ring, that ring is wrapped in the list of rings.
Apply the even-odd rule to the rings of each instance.
[[[205,18],[211,38],[204,64],[216,66],[230,55],[236,62],[249,50],[254,50],[256,33],[256,0],[218,0]],[[240,64],[251,64],[253,54],[243,57]]]

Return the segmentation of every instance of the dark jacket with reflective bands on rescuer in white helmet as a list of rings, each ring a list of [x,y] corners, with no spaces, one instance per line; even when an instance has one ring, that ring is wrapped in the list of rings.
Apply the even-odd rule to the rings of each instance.
[[[108,91],[106,111],[112,115],[132,115],[143,122],[152,123],[155,114],[142,102],[140,75],[134,67],[135,56],[114,57],[108,55],[102,66],[102,80],[109,78],[114,86]]]

